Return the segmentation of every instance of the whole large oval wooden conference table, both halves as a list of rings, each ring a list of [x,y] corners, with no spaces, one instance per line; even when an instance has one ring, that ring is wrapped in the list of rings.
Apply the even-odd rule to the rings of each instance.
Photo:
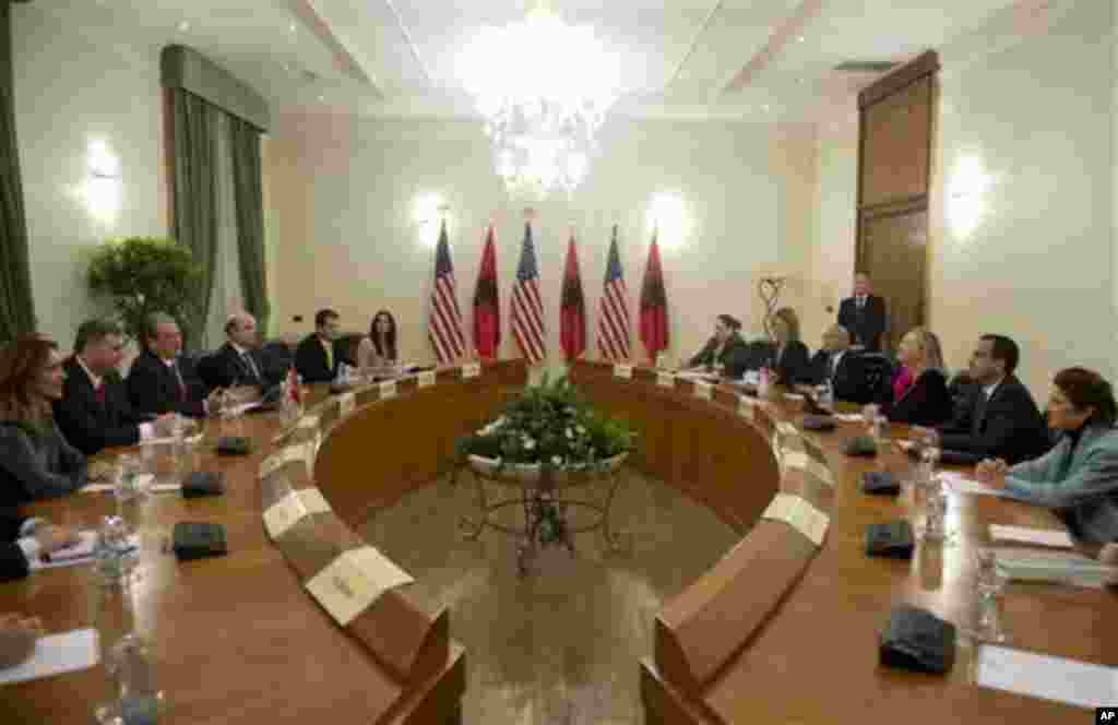
[[[972,600],[968,556],[987,542],[987,525],[1054,528],[1049,514],[953,496],[948,525],[957,544],[921,546],[912,562],[869,559],[864,527],[907,509],[903,501],[860,493],[859,478],[907,463],[893,453],[873,461],[844,456],[842,441],[860,432],[856,425],[805,433],[795,404],[742,401],[735,388],[644,368],[579,362],[570,375],[641,432],[634,465],[742,534],[664,606],[654,652],[634,662],[648,722],[1005,722],[1012,714],[1026,723],[1068,723],[1090,716],[978,688],[964,659],[946,677],[878,666],[877,634],[893,605],[912,602],[964,618]],[[152,530],[135,587],[135,625],[154,642],[172,704],[168,722],[458,721],[465,657],[449,637],[445,609],[429,611],[399,586],[341,622],[309,584],[343,555],[369,548],[353,527],[371,511],[451,472],[455,439],[495,416],[525,380],[522,364],[500,362],[343,396],[320,389],[295,425],[274,414],[247,418],[243,432],[255,450],[246,458],[217,458],[207,450],[208,434],[198,462],[225,472],[226,496],[167,495],[146,505]],[[764,518],[778,493],[809,507],[816,525],[825,521],[823,530],[805,535]],[[306,508],[294,516],[284,509],[275,535],[280,529],[264,518],[292,501]],[[30,512],[92,525],[113,509],[111,497],[91,493]],[[229,555],[177,563],[162,553],[160,531],[180,520],[224,524]],[[50,631],[101,627],[115,635],[129,623],[113,621],[91,576],[88,568],[61,568],[2,585],[0,611],[39,614]],[[1014,647],[1111,666],[1118,639],[1103,622],[1116,615],[1112,591],[1044,585],[1011,585],[1004,606]],[[103,667],[0,687],[0,723],[85,723],[92,704],[108,694]]]

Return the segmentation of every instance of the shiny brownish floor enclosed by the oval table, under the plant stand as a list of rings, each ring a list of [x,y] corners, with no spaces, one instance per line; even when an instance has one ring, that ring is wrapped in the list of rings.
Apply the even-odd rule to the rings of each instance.
[[[521,577],[514,538],[487,529],[465,539],[459,519],[476,512],[476,496],[468,474],[456,487],[439,481],[363,529],[415,576],[424,602],[449,608],[451,634],[466,647],[465,723],[644,722],[637,661],[652,653],[655,613],[726,553],[732,529],[674,489],[626,472],[612,514],[622,550],[607,553],[600,533],[579,534],[574,557],[549,547]],[[519,524],[521,509],[498,520]]]

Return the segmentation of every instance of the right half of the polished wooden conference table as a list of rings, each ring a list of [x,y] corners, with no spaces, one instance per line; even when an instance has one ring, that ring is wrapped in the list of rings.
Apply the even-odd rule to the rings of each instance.
[[[844,455],[844,441],[864,433],[863,425],[805,432],[799,403],[742,404],[737,388],[643,368],[580,362],[570,377],[641,432],[634,464],[707,502],[731,526],[756,521],[660,613],[654,655],[641,662],[647,722],[1093,722],[1088,710],[976,686],[973,646],[960,648],[946,676],[878,663],[878,635],[893,606],[913,603],[969,622],[969,557],[989,543],[988,525],[1059,528],[1050,512],[951,493],[954,543],[920,544],[911,562],[869,558],[865,527],[908,517],[909,509],[903,499],[861,493],[861,474],[878,468],[904,474],[910,463],[897,451]],[[758,520],[777,492],[830,517],[821,546],[783,521]],[[1118,665],[1112,587],[1014,582],[1002,612],[1008,647]]]

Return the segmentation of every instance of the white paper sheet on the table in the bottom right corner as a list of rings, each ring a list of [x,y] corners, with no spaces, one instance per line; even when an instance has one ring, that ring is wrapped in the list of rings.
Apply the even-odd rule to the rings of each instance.
[[[978,650],[979,687],[1079,707],[1118,703],[1118,672],[1110,667],[984,644]]]

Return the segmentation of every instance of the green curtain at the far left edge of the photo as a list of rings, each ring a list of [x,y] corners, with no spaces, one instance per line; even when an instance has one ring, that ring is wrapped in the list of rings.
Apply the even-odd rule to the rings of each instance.
[[[13,87],[11,8],[0,0],[0,345],[36,329]]]

